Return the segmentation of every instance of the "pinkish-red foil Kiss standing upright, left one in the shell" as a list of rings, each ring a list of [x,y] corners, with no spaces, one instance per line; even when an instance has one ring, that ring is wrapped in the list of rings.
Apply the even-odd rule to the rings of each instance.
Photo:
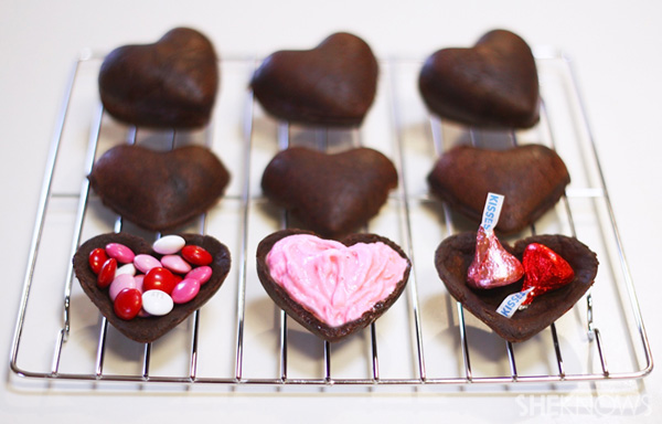
[[[467,284],[489,289],[513,284],[523,275],[520,261],[503,248],[494,232],[488,233],[481,225],[476,236],[476,256],[467,272]]]

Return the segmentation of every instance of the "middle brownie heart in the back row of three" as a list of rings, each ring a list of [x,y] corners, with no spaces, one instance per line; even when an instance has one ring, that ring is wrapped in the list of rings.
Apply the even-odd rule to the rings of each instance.
[[[255,71],[250,86],[267,113],[312,126],[359,126],[373,103],[377,61],[370,46],[335,33],[316,49],[278,51]]]

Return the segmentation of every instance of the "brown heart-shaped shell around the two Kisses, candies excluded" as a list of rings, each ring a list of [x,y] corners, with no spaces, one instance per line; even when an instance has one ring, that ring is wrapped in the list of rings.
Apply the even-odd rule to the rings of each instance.
[[[514,247],[504,247],[522,261],[524,250],[532,243],[547,246],[562,256],[575,272],[575,277],[569,284],[536,297],[512,318],[499,315],[496,308],[506,296],[522,289],[523,279],[491,289],[467,285],[467,269],[476,252],[476,233],[446,239],[435,254],[437,272],[450,295],[499,336],[513,342],[533,337],[568,311],[594,284],[598,272],[596,254],[575,237],[536,235],[519,241]]]

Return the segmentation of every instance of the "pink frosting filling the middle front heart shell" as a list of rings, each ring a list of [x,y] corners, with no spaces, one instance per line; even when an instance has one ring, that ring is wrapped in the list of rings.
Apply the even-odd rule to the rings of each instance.
[[[387,298],[408,265],[382,242],[345,246],[310,234],[279,240],[266,261],[271,278],[331,327],[360,318]]]

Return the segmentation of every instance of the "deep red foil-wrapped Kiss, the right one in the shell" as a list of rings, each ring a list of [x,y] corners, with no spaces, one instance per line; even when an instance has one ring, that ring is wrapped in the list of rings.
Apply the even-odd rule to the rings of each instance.
[[[522,290],[533,287],[523,306],[531,304],[535,297],[560,288],[575,279],[575,272],[570,265],[543,244],[532,243],[526,246],[522,264],[525,273]]]

